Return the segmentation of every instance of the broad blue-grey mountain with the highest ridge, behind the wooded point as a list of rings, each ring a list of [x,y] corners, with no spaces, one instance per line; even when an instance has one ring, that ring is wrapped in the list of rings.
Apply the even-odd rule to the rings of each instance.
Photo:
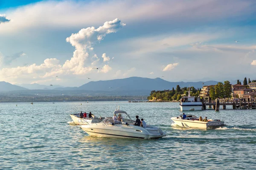
[[[79,90],[88,91],[138,91],[138,90],[164,90],[176,88],[177,85],[183,87],[195,87],[202,88],[204,85],[215,85],[217,81],[207,81],[207,82],[168,82],[166,80],[155,78],[143,78],[143,77],[129,77],[125,79],[113,79],[104,80],[96,82],[88,82],[81,85]],[[71,90],[71,89],[69,89]]]

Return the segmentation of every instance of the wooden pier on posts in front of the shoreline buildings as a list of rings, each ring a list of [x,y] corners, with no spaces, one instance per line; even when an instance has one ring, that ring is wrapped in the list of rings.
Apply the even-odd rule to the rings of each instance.
[[[232,105],[233,109],[256,109],[256,100],[231,100],[231,99],[216,99],[214,101],[202,100],[203,109],[206,110],[207,106],[219,111],[220,106],[226,110],[227,105]]]

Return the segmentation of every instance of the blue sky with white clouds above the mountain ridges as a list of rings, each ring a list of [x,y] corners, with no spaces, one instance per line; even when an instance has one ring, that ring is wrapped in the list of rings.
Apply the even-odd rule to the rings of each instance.
[[[255,73],[254,0],[0,0],[0,81],[80,86]]]

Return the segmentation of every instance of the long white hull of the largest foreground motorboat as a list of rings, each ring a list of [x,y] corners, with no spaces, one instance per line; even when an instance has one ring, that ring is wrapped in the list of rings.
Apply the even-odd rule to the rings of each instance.
[[[126,126],[126,125],[125,125]],[[90,136],[104,138],[126,138],[126,139],[158,139],[166,136],[162,130],[148,130],[144,127],[131,126],[115,126],[115,125],[82,125],[81,128]],[[152,132],[153,131],[153,132]]]

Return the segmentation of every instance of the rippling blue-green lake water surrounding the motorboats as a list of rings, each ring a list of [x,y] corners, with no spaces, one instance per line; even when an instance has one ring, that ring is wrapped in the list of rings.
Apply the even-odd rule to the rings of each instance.
[[[167,133],[162,139],[90,137],[70,113],[112,116],[115,102],[0,104],[0,169],[256,169],[256,110],[190,111],[225,121],[215,130],[172,125],[178,103],[118,102]],[[186,112],[188,113],[188,112]]]

